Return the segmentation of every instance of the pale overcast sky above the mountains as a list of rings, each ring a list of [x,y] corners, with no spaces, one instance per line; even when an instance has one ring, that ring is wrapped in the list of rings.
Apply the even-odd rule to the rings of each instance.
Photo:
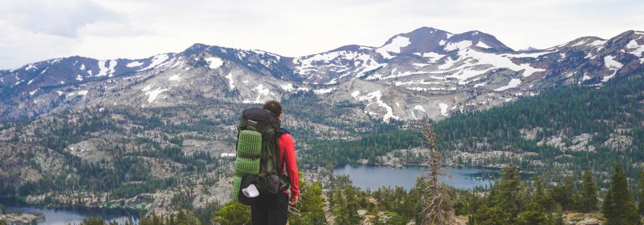
[[[0,69],[73,55],[144,58],[194,43],[297,57],[380,47],[419,27],[546,49],[644,30],[642,12],[641,0],[0,0]]]

